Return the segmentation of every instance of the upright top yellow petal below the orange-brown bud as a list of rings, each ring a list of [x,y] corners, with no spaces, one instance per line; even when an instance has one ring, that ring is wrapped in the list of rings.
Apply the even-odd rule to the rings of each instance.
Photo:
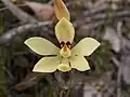
[[[63,17],[55,26],[55,34],[60,43],[62,41],[72,43],[75,37],[73,24]]]

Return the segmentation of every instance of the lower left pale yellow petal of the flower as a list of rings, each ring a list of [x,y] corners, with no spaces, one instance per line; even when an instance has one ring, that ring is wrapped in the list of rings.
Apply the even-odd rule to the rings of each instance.
[[[34,68],[34,72],[54,72],[60,65],[60,57],[43,57]]]

